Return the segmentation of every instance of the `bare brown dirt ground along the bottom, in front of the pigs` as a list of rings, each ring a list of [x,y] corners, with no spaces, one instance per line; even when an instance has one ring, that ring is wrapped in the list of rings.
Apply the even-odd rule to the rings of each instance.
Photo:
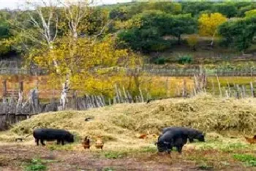
[[[51,151],[42,146],[1,146],[0,170],[29,170],[42,164],[47,170],[214,170],[207,164],[196,164],[187,160],[187,154],[144,154],[140,157],[125,156],[118,159],[108,159],[100,153],[89,151]],[[37,160],[37,162],[33,163]],[[36,168],[36,167],[34,167]],[[222,170],[253,170],[242,164],[229,164]],[[31,169],[32,170],[32,169]],[[39,169],[34,169],[39,170]]]

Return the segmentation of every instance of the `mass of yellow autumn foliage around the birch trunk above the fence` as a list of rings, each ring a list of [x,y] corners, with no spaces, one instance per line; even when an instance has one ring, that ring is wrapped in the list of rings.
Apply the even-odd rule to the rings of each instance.
[[[49,69],[55,84],[58,84],[56,80],[63,82],[68,75],[73,90],[108,97],[113,96],[115,84],[126,85],[128,77],[124,66],[132,68],[142,63],[140,57],[128,49],[116,49],[113,37],[101,41],[59,39],[53,49],[41,50],[33,58],[37,65]]]

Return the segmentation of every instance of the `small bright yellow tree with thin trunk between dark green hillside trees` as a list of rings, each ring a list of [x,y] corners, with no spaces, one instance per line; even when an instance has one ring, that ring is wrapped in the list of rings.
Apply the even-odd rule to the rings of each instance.
[[[217,34],[217,28],[222,23],[225,23],[227,18],[220,13],[213,13],[210,15],[203,14],[199,17],[199,33],[200,36],[211,36],[211,46],[214,44],[214,37]]]

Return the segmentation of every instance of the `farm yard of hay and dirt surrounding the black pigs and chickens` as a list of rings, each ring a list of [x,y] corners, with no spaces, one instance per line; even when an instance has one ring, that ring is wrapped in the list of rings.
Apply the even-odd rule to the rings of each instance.
[[[23,170],[41,164],[48,170],[253,170],[256,148],[244,136],[255,132],[255,115],[253,98],[221,100],[208,95],[41,114],[0,133],[0,168]],[[93,119],[85,122],[88,117]],[[158,155],[153,135],[168,125],[203,130],[206,143],[187,143],[181,155],[176,151]],[[49,142],[37,147],[31,135],[15,142],[29,135],[32,127],[64,128],[76,140],[65,146]],[[148,136],[140,139],[140,134]],[[90,150],[81,146],[86,135],[92,140]],[[105,141],[103,151],[93,146],[97,136]]]

